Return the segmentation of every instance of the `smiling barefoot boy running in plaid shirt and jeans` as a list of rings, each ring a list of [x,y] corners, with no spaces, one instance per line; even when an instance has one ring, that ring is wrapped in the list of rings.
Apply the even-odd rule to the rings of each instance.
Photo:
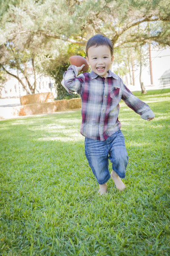
[[[77,92],[82,99],[80,133],[85,136],[85,155],[102,195],[106,193],[110,177],[119,191],[125,189],[121,178],[125,177],[128,157],[118,119],[120,100],[142,119],[150,121],[154,114],[111,72],[113,45],[109,38],[100,34],[90,38],[86,44],[86,61],[91,72],[77,76],[84,65],[71,65],[64,73],[62,85],[69,93]],[[111,174],[108,159],[112,163]]]

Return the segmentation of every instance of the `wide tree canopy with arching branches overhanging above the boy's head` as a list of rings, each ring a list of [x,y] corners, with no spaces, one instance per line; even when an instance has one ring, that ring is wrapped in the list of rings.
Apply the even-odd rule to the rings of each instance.
[[[111,38],[115,47],[153,41],[170,46],[170,2],[167,0],[23,0],[8,14],[13,23],[8,35],[34,32],[85,45],[91,35],[102,33]],[[3,22],[7,20],[8,15]],[[136,32],[140,24],[140,31]]]

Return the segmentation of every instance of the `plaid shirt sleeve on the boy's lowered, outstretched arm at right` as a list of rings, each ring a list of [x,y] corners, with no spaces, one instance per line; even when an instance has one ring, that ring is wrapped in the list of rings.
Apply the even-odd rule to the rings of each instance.
[[[134,96],[125,84],[123,84],[122,100],[144,120],[147,120],[148,117],[152,118],[155,116],[150,107],[145,102]]]

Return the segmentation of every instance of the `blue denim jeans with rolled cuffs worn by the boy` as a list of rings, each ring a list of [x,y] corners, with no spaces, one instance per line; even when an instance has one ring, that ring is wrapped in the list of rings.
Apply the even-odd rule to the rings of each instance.
[[[125,177],[128,156],[122,131],[117,131],[104,141],[85,138],[85,156],[100,185],[106,183],[111,177],[108,169],[109,159],[113,171],[120,178]]]

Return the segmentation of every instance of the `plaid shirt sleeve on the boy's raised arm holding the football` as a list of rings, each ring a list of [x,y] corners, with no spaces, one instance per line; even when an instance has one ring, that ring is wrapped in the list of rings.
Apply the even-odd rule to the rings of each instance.
[[[68,70],[65,71],[61,84],[68,93],[81,93],[85,77],[83,74],[80,74],[79,76],[77,75],[78,70],[74,65],[69,66]]]

